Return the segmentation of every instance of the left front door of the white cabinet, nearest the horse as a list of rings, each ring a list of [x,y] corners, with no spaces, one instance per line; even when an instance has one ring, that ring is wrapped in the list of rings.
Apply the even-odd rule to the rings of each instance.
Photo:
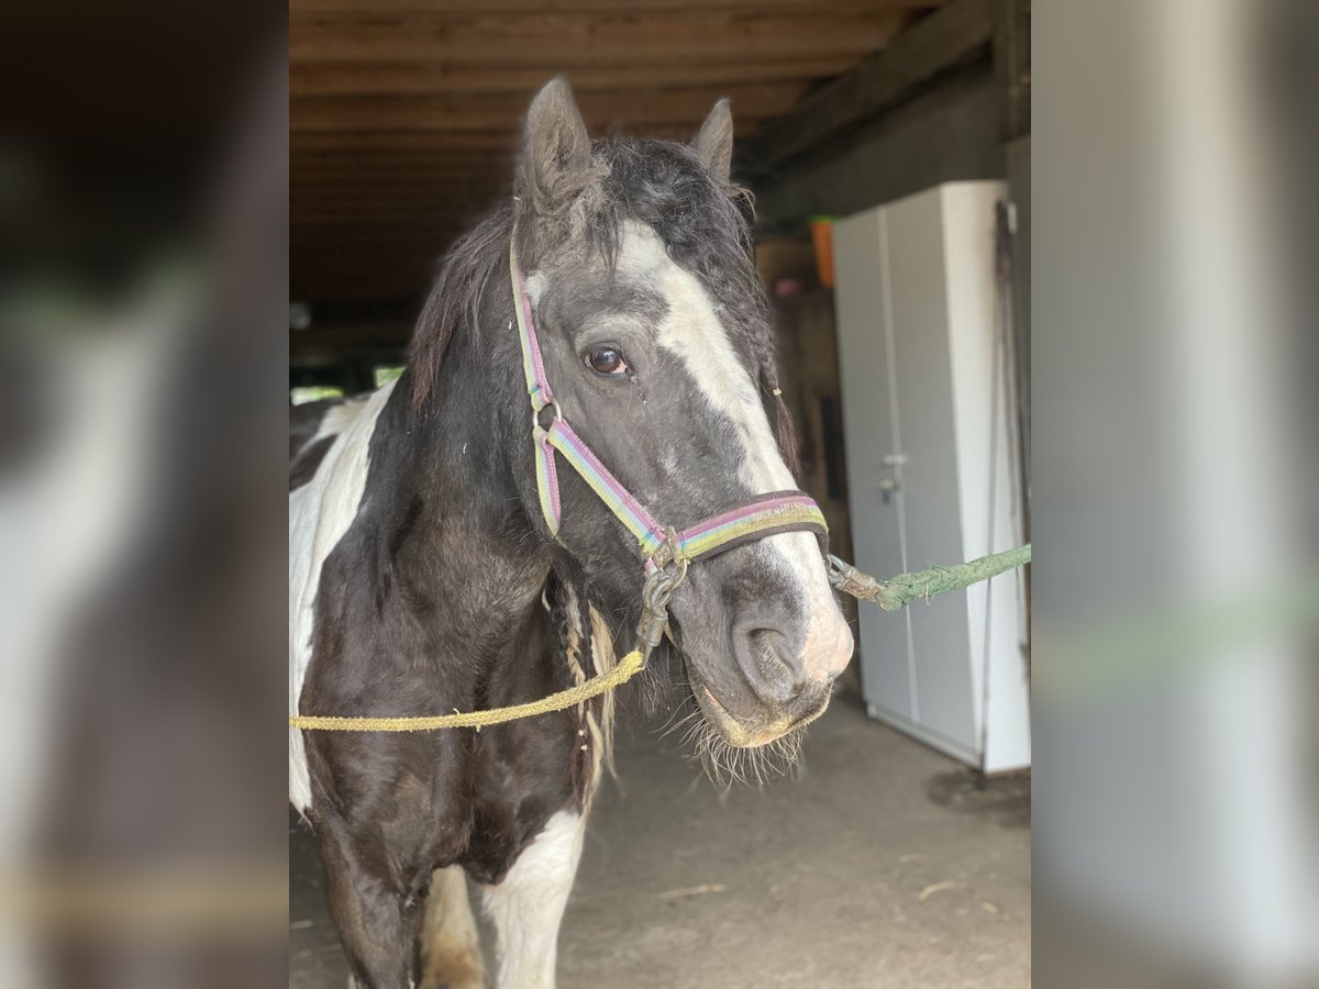
[[[881,224],[877,210],[835,224],[834,305],[855,562],[869,574],[900,574],[905,568],[902,494],[892,488],[897,480],[893,462],[901,451],[894,442]],[[890,614],[863,607],[860,649],[867,703],[911,720],[914,682],[906,611]]]

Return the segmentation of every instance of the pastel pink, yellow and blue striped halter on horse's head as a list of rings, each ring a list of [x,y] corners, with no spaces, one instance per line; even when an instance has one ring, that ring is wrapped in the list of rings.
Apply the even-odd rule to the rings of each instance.
[[[735,546],[764,539],[786,531],[810,531],[822,542],[828,537],[828,526],[819,506],[799,491],[778,491],[760,494],[696,525],[677,530],[656,521],[645,506],[615,477],[591,447],[574,431],[563,410],[554,400],[541,344],[536,336],[532,303],[526,295],[526,282],[517,264],[516,237],[509,245],[509,273],[513,282],[513,303],[517,313],[518,340],[522,345],[522,371],[526,375],[526,393],[532,400],[532,442],[536,447],[536,487],[541,498],[541,512],[553,535],[558,535],[562,517],[558,465],[555,451],[575,469],[591,489],[609,508],[637,539],[637,549],[646,572],[662,571],[675,564],[678,574],[670,582],[671,592],[686,575],[687,563],[698,556],[714,556]],[[550,409],[553,418],[542,426],[542,413]]]

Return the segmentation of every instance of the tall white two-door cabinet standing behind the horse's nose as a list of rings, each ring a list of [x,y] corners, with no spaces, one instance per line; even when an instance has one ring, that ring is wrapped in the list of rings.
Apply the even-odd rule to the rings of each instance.
[[[834,227],[856,566],[876,576],[1018,545],[995,285],[1000,182],[951,182]],[[861,607],[872,717],[988,773],[1030,765],[1021,571]]]

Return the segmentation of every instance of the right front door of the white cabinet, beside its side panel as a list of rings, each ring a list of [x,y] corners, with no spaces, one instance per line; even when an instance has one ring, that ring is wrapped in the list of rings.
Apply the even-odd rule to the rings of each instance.
[[[944,187],[939,187],[882,211],[911,570],[963,559],[944,206]],[[966,595],[913,601],[906,611],[915,670],[914,720],[943,740],[940,748],[976,761],[980,744]]]

